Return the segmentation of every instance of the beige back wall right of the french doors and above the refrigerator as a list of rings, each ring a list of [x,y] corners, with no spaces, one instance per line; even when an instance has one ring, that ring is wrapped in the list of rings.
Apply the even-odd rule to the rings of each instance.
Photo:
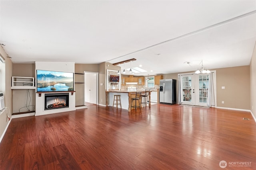
[[[216,106],[250,110],[250,66],[212,70],[216,70]],[[163,78],[178,80],[178,74],[181,73],[164,74]],[[222,86],[225,86],[225,89],[222,89]],[[224,101],[224,104],[222,104],[222,101]]]

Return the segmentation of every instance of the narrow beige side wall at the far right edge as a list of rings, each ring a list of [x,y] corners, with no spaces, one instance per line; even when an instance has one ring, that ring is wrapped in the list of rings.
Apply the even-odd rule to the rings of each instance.
[[[250,110],[256,119],[256,44],[252,53],[252,59],[250,63]]]

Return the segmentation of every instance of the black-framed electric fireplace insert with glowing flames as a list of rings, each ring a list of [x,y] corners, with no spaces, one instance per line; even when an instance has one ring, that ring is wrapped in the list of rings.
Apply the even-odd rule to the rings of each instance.
[[[68,95],[68,93],[44,94],[44,110],[69,107]]]

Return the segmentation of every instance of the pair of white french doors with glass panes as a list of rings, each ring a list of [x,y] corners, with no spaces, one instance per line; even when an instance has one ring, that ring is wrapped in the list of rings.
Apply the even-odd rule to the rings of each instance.
[[[180,103],[206,106],[208,87],[209,74],[180,75]]]

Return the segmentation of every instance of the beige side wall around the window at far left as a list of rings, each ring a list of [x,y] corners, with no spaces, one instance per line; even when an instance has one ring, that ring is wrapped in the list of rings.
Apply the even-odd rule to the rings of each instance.
[[[7,57],[2,46],[0,46],[0,55],[5,59],[5,87],[4,87],[4,101],[5,106],[9,108],[10,114],[12,114],[12,90],[11,90],[11,78],[12,78],[12,61]],[[9,111],[8,111],[9,112]],[[8,125],[8,120],[6,119],[6,113],[0,116],[0,136],[2,136],[4,129]],[[9,113],[8,113],[9,114]]]

